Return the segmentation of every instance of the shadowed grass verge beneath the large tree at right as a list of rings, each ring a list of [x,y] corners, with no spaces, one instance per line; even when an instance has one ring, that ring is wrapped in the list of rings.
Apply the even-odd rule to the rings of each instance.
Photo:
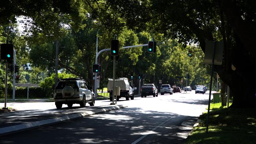
[[[199,117],[201,123],[186,139],[186,144],[255,144],[256,108],[226,108],[219,103],[211,105],[208,133],[207,114],[204,113]]]

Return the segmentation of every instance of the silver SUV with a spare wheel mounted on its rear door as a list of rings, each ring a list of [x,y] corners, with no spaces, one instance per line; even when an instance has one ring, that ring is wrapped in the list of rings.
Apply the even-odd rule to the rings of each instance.
[[[57,109],[61,109],[62,104],[72,107],[74,103],[80,104],[80,107],[85,107],[86,103],[94,106],[95,94],[82,78],[59,79],[54,90],[54,102]]]

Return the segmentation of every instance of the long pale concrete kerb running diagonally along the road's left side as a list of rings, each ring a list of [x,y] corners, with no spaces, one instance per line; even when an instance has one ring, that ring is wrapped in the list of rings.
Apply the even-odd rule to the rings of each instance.
[[[70,115],[61,116],[58,118],[51,118],[48,120],[40,120],[37,122],[29,122],[29,123],[19,124],[19,125],[15,125],[15,126],[3,127],[3,128],[0,128],[0,136],[7,135],[9,133],[15,133],[15,132],[22,131],[22,130],[32,129],[32,128],[39,127],[39,126],[45,126],[45,125],[49,125],[49,124],[63,122],[65,120],[71,120],[71,119],[79,118],[82,116],[87,116],[87,115],[91,115],[91,114],[102,113],[105,111],[120,109],[120,108],[124,108],[124,107],[127,107],[127,106],[123,106],[123,105],[102,106],[101,109],[96,109],[93,111],[87,111],[87,112],[77,113],[77,114],[70,114]]]

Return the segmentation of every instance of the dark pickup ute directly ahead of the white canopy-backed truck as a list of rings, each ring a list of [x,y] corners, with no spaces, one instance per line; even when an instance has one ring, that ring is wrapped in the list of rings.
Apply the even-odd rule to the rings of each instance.
[[[153,97],[158,96],[158,90],[156,86],[152,84],[145,84],[141,87],[141,98],[153,95]]]

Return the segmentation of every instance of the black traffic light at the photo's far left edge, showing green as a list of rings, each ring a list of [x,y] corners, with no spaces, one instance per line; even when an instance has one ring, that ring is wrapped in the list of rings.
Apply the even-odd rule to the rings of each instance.
[[[13,44],[1,44],[1,59],[7,61],[13,59]]]

